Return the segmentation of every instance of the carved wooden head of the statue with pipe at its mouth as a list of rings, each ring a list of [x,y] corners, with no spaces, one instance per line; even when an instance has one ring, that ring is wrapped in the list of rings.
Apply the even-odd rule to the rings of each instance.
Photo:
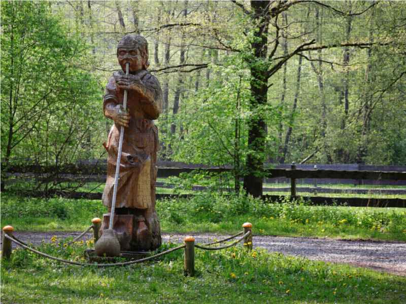
[[[129,72],[147,69],[149,66],[147,40],[138,34],[124,36],[117,46],[117,59],[124,72],[127,62]]]

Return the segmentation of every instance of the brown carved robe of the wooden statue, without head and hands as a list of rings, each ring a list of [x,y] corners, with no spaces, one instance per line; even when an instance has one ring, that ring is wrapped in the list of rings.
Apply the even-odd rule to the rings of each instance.
[[[124,91],[116,84],[115,76],[124,74],[122,70],[114,72],[106,86],[103,110],[107,118],[110,118],[106,111],[107,103],[123,104]],[[130,120],[128,128],[124,129],[116,208],[147,209],[155,207],[155,182],[158,171],[155,163],[159,142],[158,129],[153,120],[159,117],[161,111],[162,90],[158,80],[148,70],[141,69],[133,75],[140,78],[141,85],[153,92],[154,98],[152,102],[142,100],[139,94],[128,92],[127,110]],[[103,205],[109,208],[113,199],[120,129],[121,126],[113,125],[106,146],[109,152],[107,182],[101,200]]]

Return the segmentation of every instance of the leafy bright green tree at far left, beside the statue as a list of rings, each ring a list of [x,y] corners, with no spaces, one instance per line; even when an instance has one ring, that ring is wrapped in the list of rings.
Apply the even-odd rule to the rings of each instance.
[[[62,188],[54,179],[61,168],[94,156],[100,142],[98,85],[76,67],[86,65],[86,50],[48,3],[2,3],[2,190],[12,165],[56,166],[33,187],[48,188],[53,180]]]

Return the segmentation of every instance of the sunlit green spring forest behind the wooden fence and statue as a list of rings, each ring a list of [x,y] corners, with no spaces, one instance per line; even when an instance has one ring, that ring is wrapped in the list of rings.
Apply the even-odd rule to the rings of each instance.
[[[102,101],[140,33],[163,90],[158,160],[406,164],[406,6],[386,1],[2,2],[2,190],[13,166],[107,158]],[[52,179],[54,180],[54,179]],[[239,187],[235,178],[236,187]],[[260,186],[260,190],[259,190]]]

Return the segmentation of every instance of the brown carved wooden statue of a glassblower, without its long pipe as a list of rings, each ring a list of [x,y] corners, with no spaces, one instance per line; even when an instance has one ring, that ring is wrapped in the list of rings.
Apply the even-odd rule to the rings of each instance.
[[[104,95],[103,111],[114,121],[104,143],[109,156],[103,205],[111,211],[120,128],[125,127],[117,186],[113,230],[122,251],[154,250],[161,245],[159,219],[155,211],[155,182],[158,168],[158,129],[162,90],[147,70],[148,43],[138,34],[123,37],[117,46],[120,71],[113,73]],[[125,75],[129,63],[129,74]],[[122,110],[124,91],[128,90],[127,110]],[[104,229],[109,228],[110,213],[104,214]]]

